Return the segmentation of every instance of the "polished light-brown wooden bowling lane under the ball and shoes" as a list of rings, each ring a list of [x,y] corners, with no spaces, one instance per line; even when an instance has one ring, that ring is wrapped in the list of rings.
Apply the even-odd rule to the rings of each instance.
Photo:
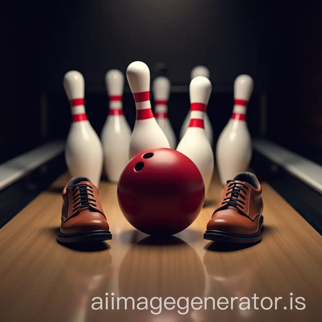
[[[269,185],[263,184],[263,239],[248,248],[203,239],[222,193],[218,178],[210,190],[213,205],[205,207],[187,230],[163,241],[133,229],[119,210],[116,185],[102,182],[100,200],[113,239],[68,248],[56,242],[60,193],[67,180],[66,175],[59,178],[0,230],[0,321],[321,320],[322,237]],[[259,298],[258,309],[251,299],[254,293]],[[94,297],[102,298],[102,309],[91,308],[98,301],[92,301]],[[135,309],[132,299],[128,299],[127,310],[120,299],[117,309],[117,297],[132,297]],[[147,298],[148,309],[137,309],[137,303],[143,301],[137,300],[139,297]],[[175,304],[167,310],[162,303],[161,312],[152,314],[151,310],[160,311],[158,300],[152,303],[155,309],[150,306],[153,297],[162,297],[163,303],[166,297],[189,297],[188,311],[182,299],[181,309]],[[203,300],[200,310],[191,307],[194,297]],[[212,299],[204,309],[205,297],[215,299],[215,309]],[[227,309],[218,308],[220,297],[229,300]],[[239,309],[238,299],[231,300],[235,297],[250,298],[250,309]],[[264,297],[273,300],[270,310],[260,306]],[[279,297],[275,309],[275,298]],[[295,308],[302,308],[295,303],[298,297],[305,298],[304,310]],[[173,306],[171,301],[168,308]],[[269,307],[269,299],[263,304]],[[195,308],[199,306],[195,304]],[[179,314],[178,310],[187,313]]]

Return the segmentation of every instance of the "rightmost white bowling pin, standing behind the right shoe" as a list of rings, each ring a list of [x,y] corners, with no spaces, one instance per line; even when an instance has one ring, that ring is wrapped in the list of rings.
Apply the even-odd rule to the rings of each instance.
[[[216,159],[222,185],[235,175],[248,170],[252,155],[251,136],[246,123],[246,109],[254,83],[249,75],[240,75],[234,82],[232,117],[220,134]]]

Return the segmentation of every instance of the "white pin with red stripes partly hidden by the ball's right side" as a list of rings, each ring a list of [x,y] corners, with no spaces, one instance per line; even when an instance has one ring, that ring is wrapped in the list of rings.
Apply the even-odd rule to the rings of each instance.
[[[191,119],[177,151],[190,158],[199,169],[207,194],[213,177],[213,149],[204,129],[204,115],[211,94],[211,82],[204,76],[197,76],[190,82]]]

